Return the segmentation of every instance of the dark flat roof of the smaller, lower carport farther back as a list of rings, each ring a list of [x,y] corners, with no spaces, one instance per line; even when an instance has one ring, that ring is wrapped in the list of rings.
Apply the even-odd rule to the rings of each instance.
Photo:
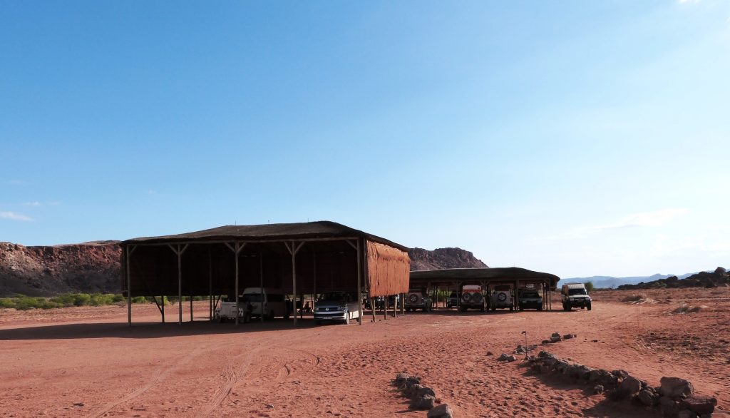
[[[442,270],[414,270],[410,272],[411,281],[513,281],[549,280],[550,287],[556,289],[560,278],[554,274],[527,270],[521,267],[481,267],[449,268]]]

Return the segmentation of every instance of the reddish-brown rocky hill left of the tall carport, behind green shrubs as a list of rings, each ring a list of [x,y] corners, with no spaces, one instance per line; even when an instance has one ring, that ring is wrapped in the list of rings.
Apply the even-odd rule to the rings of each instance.
[[[118,241],[66,246],[0,243],[0,296],[118,293]]]

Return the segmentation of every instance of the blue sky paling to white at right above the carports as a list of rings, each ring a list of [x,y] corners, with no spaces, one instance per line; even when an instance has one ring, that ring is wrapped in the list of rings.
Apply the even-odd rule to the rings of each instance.
[[[328,219],[730,267],[730,1],[3,1],[0,240]]]

